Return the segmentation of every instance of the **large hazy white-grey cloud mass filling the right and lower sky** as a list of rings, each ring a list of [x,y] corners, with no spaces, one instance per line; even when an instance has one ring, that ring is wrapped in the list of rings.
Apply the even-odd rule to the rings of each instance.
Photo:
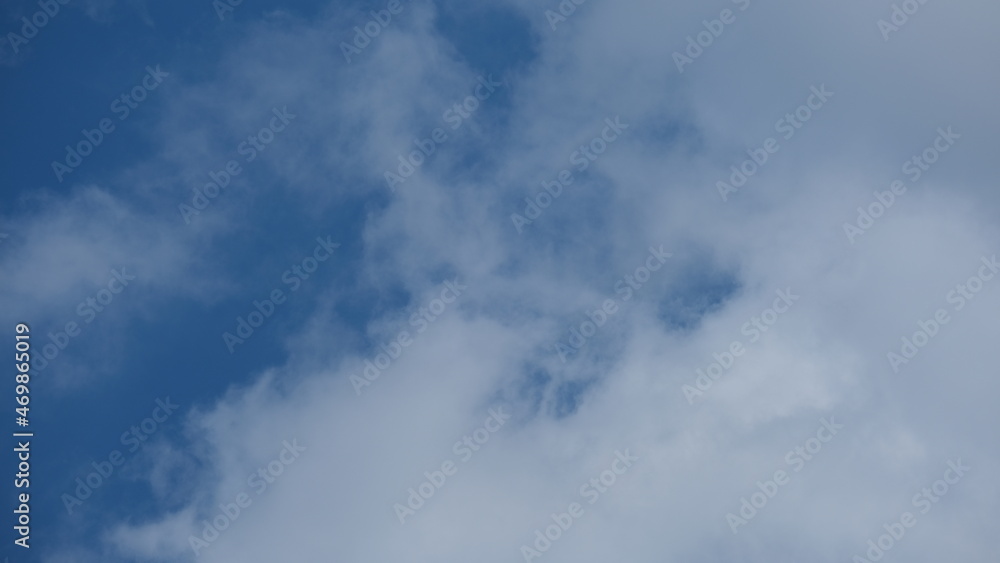
[[[484,118],[482,135],[495,142],[482,145],[478,168],[456,171],[443,151],[364,231],[362,267],[373,284],[399,283],[417,305],[449,269],[468,294],[362,397],[347,378],[363,351],[325,368],[312,361],[329,357],[322,342],[330,321],[318,313],[298,335],[316,343],[315,352],[300,345],[289,366],[193,415],[190,439],[209,470],[190,505],[159,520],[123,522],[110,544],[130,556],[183,560],[200,520],[245,488],[283,440],[296,438],[308,447],[301,460],[200,560],[514,560],[550,513],[578,500],[580,486],[625,448],[641,462],[587,505],[545,561],[847,560],[957,458],[974,470],[918,518],[917,532],[893,555],[995,555],[988,530],[997,517],[979,499],[995,492],[990,311],[1000,293],[988,288],[956,311],[903,373],[893,374],[885,355],[918,319],[948,307],[947,291],[997,251],[994,173],[985,157],[995,149],[998,113],[987,93],[997,76],[982,70],[997,47],[987,29],[996,8],[928,3],[885,44],[875,25],[884,10],[762,3],[678,75],[671,52],[715,8],[594,1],[553,33],[543,8],[515,5],[536,27],[540,53],[505,77],[509,116],[506,126]],[[297,140],[276,143],[267,165],[274,174],[292,191],[315,195],[321,212],[336,199],[324,195],[327,171],[370,182],[338,186],[337,197],[378,193],[395,154],[467,95],[480,72],[464,68],[435,33],[430,8],[408,10],[346,70],[333,70],[343,67],[336,45],[348,26],[341,20],[253,24],[242,44],[220,55],[227,70],[219,80],[188,86],[168,115],[211,111],[238,138],[259,120],[258,110],[287,103],[308,117],[297,124]],[[821,83],[836,92],[829,107],[722,203],[716,180]],[[509,220],[519,201],[568,166],[595,124],[618,114],[632,124],[630,135],[579,175],[539,229],[519,236]],[[177,148],[163,160],[191,174],[205,169],[190,165],[202,143],[232,144],[212,138],[208,127],[186,132],[167,123],[164,144]],[[842,224],[949,124],[964,135],[961,145],[851,245]],[[677,139],[672,128],[683,131]],[[482,140],[465,134],[456,144]],[[188,138],[197,142],[173,142]],[[313,162],[294,156],[306,149]],[[188,193],[172,185],[172,197]],[[88,193],[81,197],[103,212],[120,209]],[[241,205],[234,198],[213,213],[228,217]],[[182,242],[156,247],[162,256],[147,268],[185,263],[180,248],[194,243],[179,228],[166,230]],[[656,307],[690,274],[665,272],[600,335],[619,347],[597,348],[605,353],[566,368],[553,361],[543,344],[558,340],[574,314],[593,308],[650,244],[663,241],[690,259],[681,263],[734,272],[740,290],[690,332],[677,331]],[[139,254],[125,245],[109,256]],[[93,262],[82,261],[77,277],[99,278]],[[17,280],[29,278],[11,279],[27,287]],[[47,283],[46,291],[67,284]],[[741,338],[743,323],[785,287],[801,301],[703,401],[689,405],[681,385]],[[391,335],[405,326],[403,317],[371,330]],[[597,377],[579,409],[558,418],[552,387],[550,402],[531,400],[539,391],[526,377],[531,366],[550,371],[550,386]],[[294,383],[281,385],[286,377]],[[516,413],[510,426],[401,526],[393,503],[498,403]],[[757,480],[786,467],[786,452],[814,435],[824,416],[845,429],[733,535],[725,514],[738,510]],[[953,528],[952,520],[964,525]]]

